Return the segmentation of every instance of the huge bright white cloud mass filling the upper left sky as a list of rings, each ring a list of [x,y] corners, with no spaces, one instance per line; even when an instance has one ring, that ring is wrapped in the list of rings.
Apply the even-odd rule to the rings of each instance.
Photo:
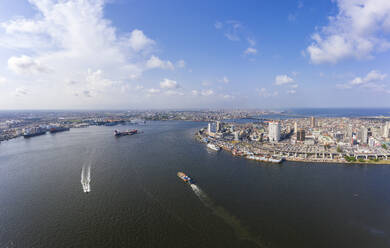
[[[169,60],[150,61],[156,42],[143,31],[117,32],[104,18],[106,1],[30,0],[29,3],[35,11],[32,18],[0,22],[0,51],[13,52],[8,69],[15,73],[12,77],[15,87],[22,86],[20,82],[26,79],[34,84],[34,106],[53,103],[50,92],[61,92],[53,103],[60,107],[81,106],[82,100],[72,98],[75,92],[79,96],[99,96],[91,99],[89,107],[131,101],[138,97],[135,91],[126,91],[126,96],[121,91],[129,80],[139,78],[153,66],[174,68]],[[118,99],[119,96],[123,98]],[[1,99],[0,103],[3,104]]]

